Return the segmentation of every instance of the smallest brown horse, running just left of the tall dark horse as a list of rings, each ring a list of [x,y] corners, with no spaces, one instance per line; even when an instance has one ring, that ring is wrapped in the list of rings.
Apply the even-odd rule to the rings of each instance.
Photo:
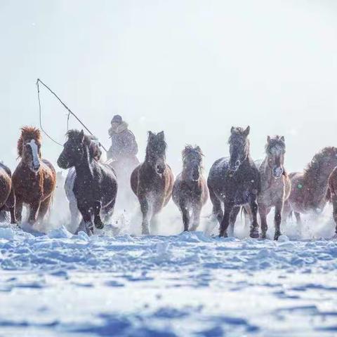
[[[197,230],[201,209],[209,199],[209,189],[202,176],[203,156],[199,146],[187,145],[182,152],[183,171],[178,174],[173,184],[172,199],[183,216],[185,232],[189,230],[191,215],[190,230]]]

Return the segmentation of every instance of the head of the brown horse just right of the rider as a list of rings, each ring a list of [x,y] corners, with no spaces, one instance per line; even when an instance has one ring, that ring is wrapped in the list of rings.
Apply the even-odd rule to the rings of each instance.
[[[163,174],[166,168],[166,147],[164,131],[159,133],[149,131],[145,161],[159,175]]]

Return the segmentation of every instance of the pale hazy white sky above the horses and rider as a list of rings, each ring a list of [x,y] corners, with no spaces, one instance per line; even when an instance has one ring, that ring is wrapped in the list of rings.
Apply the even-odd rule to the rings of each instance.
[[[251,154],[286,138],[286,169],[337,146],[337,2],[0,0],[0,160],[15,169],[20,127],[39,126],[37,78],[101,142],[121,114],[143,160],[164,130],[178,173],[186,143],[205,167],[227,156],[231,126],[251,126]],[[41,88],[44,128],[65,141],[67,114]],[[74,119],[72,128],[80,128]],[[43,157],[62,148],[44,137]]]

